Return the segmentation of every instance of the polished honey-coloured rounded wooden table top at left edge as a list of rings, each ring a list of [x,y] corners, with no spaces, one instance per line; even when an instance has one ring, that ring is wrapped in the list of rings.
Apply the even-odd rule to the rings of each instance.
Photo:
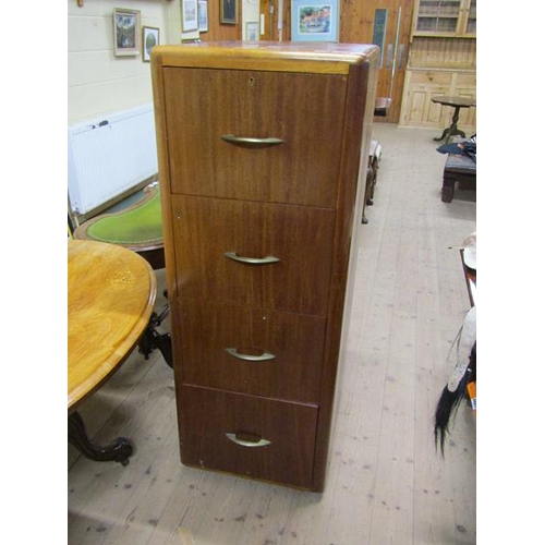
[[[154,310],[157,281],[135,252],[68,241],[68,409],[93,393],[137,343]]]

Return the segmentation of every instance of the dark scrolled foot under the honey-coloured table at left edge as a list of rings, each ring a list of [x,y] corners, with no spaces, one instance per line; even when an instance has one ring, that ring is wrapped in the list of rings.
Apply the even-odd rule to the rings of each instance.
[[[120,462],[121,465],[129,464],[129,458],[134,452],[130,439],[118,437],[106,446],[90,443],[81,414],[75,411],[69,415],[68,439],[82,455],[97,462]]]

